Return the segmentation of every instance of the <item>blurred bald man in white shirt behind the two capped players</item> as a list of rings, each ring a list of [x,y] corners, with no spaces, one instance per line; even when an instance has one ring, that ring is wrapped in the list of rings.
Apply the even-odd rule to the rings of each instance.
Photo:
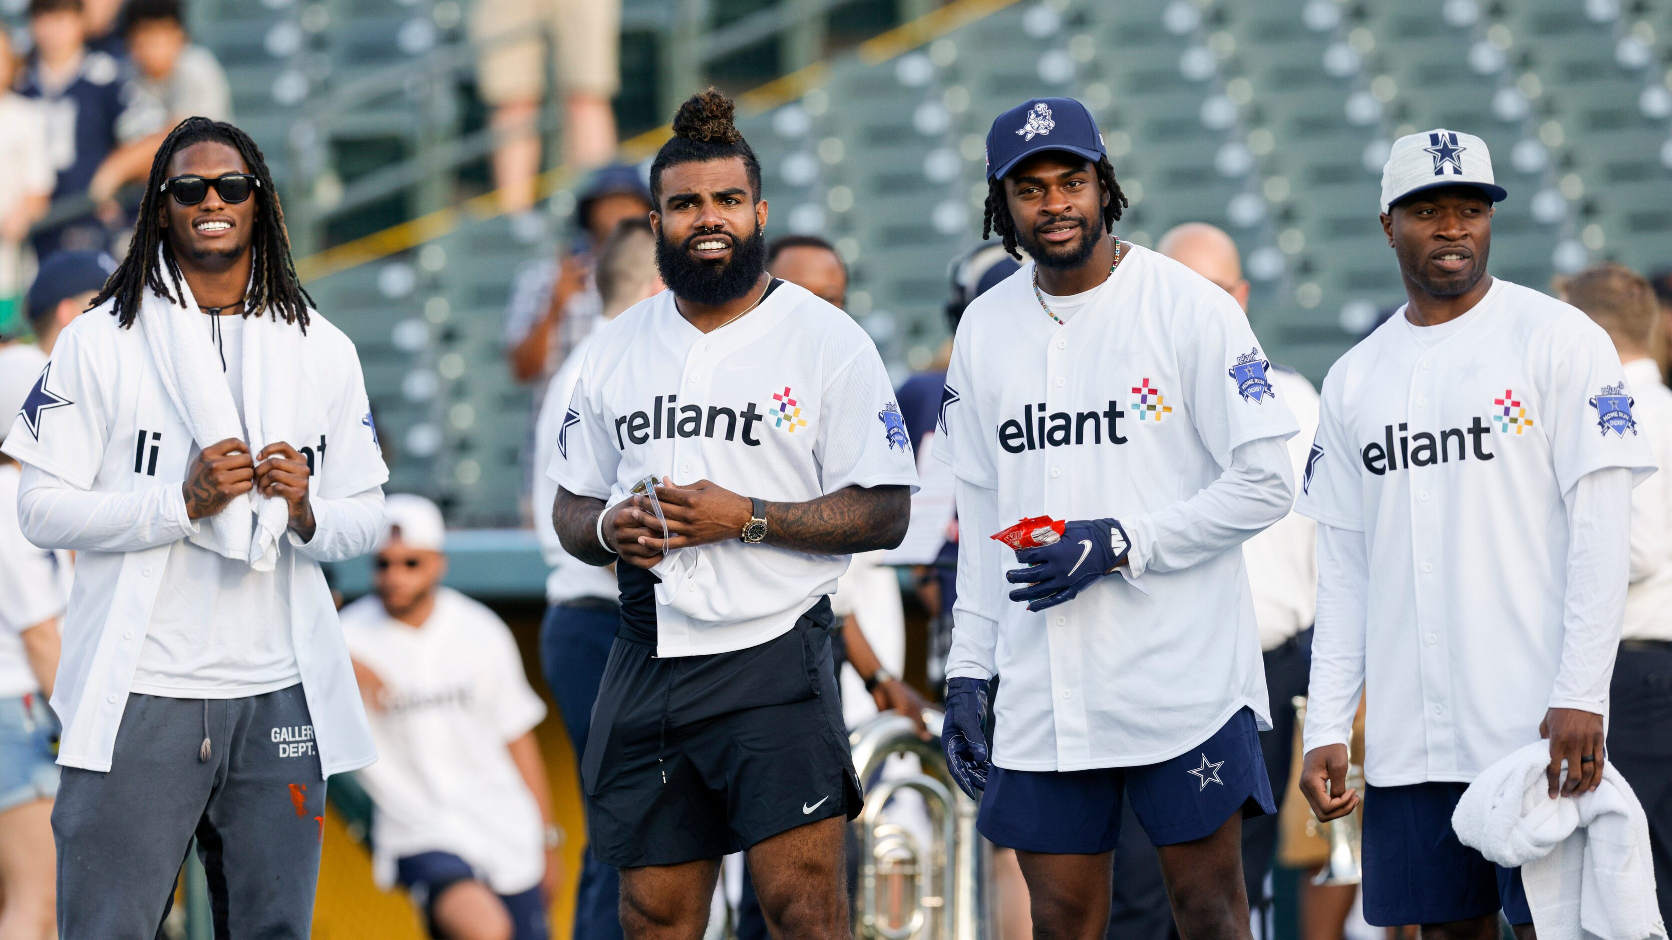
[[[1155,249],[1217,284],[1247,313],[1249,283],[1242,278],[1237,243],[1206,222],[1185,222],[1160,238]],[[1306,470],[1306,457],[1318,432],[1318,390],[1304,375],[1279,365],[1267,371],[1279,398],[1289,406],[1301,432],[1289,438],[1294,478]],[[1272,793],[1289,789],[1289,758],[1294,748],[1294,696],[1306,694],[1311,669],[1313,619],[1318,614],[1318,524],[1291,512],[1247,540],[1242,550],[1254,621],[1266,666],[1271,731],[1261,731],[1261,753]],[[1154,850],[1149,850],[1154,853]],[[1242,821],[1242,878],[1249,908],[1269,923],[1271,891],[1266,875],[1277,853],[1277,816]],[[1159,871],[1159,868],[1157,868]],[[1316,888],[1314,888],[1316,890]]]

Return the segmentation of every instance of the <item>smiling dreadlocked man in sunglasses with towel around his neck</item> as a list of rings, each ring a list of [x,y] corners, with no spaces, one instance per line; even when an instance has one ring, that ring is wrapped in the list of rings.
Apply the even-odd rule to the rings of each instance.
[[[376,544],[388,470],[281,219],[244,132],[182,122],[5,438],[23,534],[77,550],[64,937],[154,935],[194,836],[221,933],[308,935],[326,776],[376,759],[319,564]]]

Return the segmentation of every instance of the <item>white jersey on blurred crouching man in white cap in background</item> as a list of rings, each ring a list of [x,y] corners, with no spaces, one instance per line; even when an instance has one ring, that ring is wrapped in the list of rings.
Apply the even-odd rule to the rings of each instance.
[[[420,851],[463,858],[502,895],[538,885],[545,826],[507,744],[540,724],[545,702],[505,621],[443,587],[421,627],[368,595],[343,607],[343,636],[385,691],[368,714],[378,763],[359,773],[376,803],[378,885]]]

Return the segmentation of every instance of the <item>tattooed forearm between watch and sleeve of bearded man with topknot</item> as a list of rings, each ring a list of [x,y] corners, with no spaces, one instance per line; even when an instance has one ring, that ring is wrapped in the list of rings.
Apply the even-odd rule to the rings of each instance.
[[[844,487],[804,503],[766,503],[766,544],[814,555],[893,549],[906,537],[906,487]]]

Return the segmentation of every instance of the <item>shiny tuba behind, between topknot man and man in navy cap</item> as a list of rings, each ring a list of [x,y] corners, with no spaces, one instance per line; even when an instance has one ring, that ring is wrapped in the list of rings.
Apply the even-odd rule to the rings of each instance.
[[[859,876],[856,940],[986,940],[986,843],[975,831],[976,803],[946,771],[940,748],[941,713],[925,711],[933,738],[923,741],[903,714],[886,711],[848,734],[853,766],[864,784],[864,811],[853,821]],[[916,754],[920,773],[881,779],[893,754]],[[890,798],[915,791],[930,818],[930,840],[883,818]]]

